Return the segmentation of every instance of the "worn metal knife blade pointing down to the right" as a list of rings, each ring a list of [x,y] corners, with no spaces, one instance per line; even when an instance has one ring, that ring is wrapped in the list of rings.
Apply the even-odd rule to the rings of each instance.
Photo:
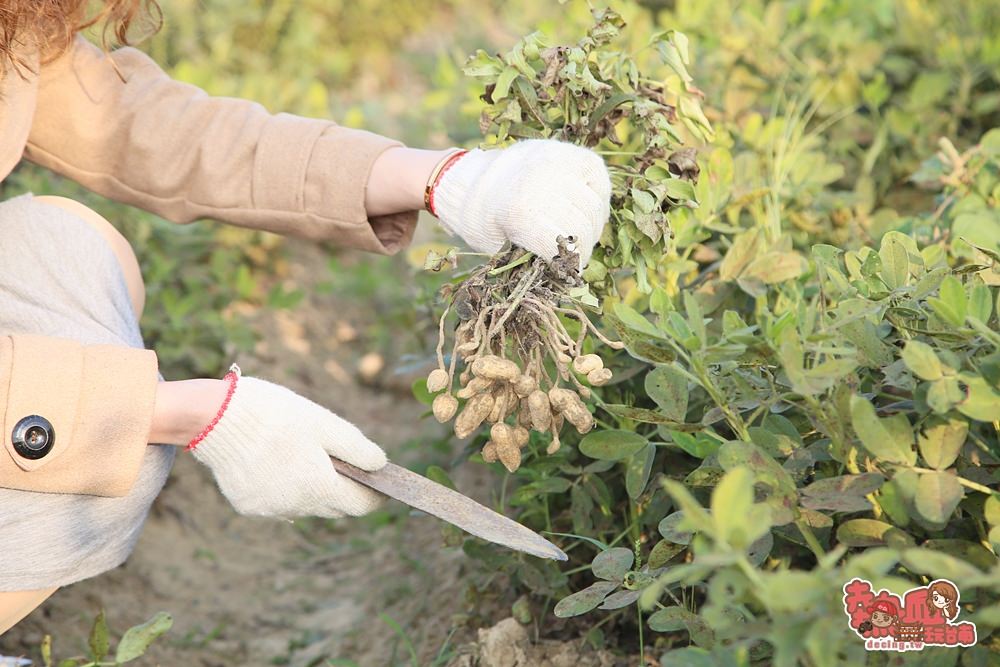
[[[330,460],[337,472],[355,482],[432,514],[476,537],[539,558],[568,560],[562,549],[533,530],[406,468],[387,463],[381,470],[368,472],[332,456]]]

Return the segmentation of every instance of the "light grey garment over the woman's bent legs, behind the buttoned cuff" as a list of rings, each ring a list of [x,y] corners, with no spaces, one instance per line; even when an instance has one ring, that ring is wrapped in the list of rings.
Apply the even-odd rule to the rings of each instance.
[[[97,230],[30,195],[0,203],[0,333],[144,347],[118,259]],[[125,497],[0,489],[0,591],[64,586],[132,552],[176,447],[147,447]]]

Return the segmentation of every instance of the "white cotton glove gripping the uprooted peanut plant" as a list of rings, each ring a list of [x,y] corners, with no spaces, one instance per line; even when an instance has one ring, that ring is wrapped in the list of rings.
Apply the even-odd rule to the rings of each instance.
[[[434,211],[449,232],[480,252],[510,241],[552,259],[557,236],[574,236],[581,268],[608,221],[611,177],[599,155],[552,139],[473,149],[444,172]]]

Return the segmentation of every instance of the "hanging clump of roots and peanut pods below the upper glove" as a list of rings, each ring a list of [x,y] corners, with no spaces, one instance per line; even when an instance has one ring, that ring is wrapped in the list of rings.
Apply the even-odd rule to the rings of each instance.
[[[440,392],[434,416],[441,423],[454,418],[459,438],[490,424],[483,458],[499,460],[511,472],[521,464],[530,431],[551,433],[547,451],[552,454],[559,449],[565,422],[581,434],[594,427],[583,403],[590,398],[587,385],[604,385],[612,374],[601,357],[583,353],[587,337],[623,347],[601,334],[570,298],[569,290],[583,284],[579,256],[572,250],[572,237],[557,241],[559,254],[550,262],[512,248],[443,290],[449,303],[439,323],[438,368],[427,378],[427,388]],[[445,327],[452,311],[458,325],[446,365]],[[579,321],[575,337],[566,330],[564,317]],[[453,392],[460,359],[464,369]],[[461,411],[459,399],[465,399]]]

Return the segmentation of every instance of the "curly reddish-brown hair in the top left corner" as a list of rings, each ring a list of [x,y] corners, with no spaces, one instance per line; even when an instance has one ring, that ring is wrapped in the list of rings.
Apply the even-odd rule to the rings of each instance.
[[[23,76],[24,50],[37,50],[42,62],[59,56],[77,32],[100,26],[105,49],[129,44],[139,25],[142,36],[160,28],[163,16],[156,0],[104,0],[89,11],[89,0],[3,0],[0,2],[0,74],[9,69]]]

